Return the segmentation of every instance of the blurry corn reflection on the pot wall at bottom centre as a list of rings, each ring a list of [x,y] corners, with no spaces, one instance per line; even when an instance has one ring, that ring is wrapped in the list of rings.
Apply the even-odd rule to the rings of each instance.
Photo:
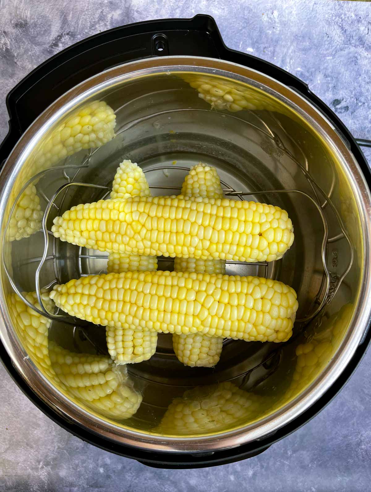
[[[240,390],[230,382],[194,388],[172,401],[156,432],[191,435],[227,431],[247,425],[265,408],[265,398]]]

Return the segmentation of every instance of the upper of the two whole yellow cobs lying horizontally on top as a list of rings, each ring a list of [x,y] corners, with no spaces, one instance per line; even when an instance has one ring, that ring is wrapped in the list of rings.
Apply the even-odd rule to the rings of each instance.
[[[255,202],[134,197],[78,205],[54,219],[55,237],[100,251],[273,261],[292,245],[287,213]]]

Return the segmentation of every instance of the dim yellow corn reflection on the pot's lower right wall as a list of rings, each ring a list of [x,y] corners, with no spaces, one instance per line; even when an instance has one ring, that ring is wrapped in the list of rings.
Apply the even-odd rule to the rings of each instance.
[[[299,395],[335,356],[349,326],[353,305],[345,304],[326,320],[322,320],[318,333],[307,343],[296,347],[296,367],[285,400]]]

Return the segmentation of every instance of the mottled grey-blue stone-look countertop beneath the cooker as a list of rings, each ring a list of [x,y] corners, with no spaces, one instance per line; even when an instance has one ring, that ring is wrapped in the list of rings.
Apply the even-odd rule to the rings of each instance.
[[[371,4],[331,0],[0,0],[0,140],[5,95],[32,68],[98,31],[148,19],[216,18],[225,43],[309,84],[358,138],[371,138]],[[371,153],[367,154],[371,158]],[[371,491],[371,351],[340,395],[260,456],[156,470],[59,428],[0,366],[2,491]]]

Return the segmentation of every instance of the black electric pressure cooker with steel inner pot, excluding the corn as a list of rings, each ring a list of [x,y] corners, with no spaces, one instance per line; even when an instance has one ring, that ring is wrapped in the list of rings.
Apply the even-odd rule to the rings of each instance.
[[[148,465],[203,467],[261,453],[340,391],[371,337],[370,170],[359,147],[368,142],[357,143],[305,83],[226,48],[214,20],[197,15],[96,34],[37,67],[6,101],[0,356],[46,415]],[[55,135],[76,112],[100,107],[96,101],[115,115],[112,138],[102,132],[98,143],[63,147]],[[299,301],[287,342],[224,340],[214,368],[183,366],[170,335],[159,335],[150,360],[127,366],[141,399],[129,418],[107,416],[58,379],[48,347],[104,355],[105,330],[53,310],[44,295],[56,283],[105,270],[107,256],[62,243],[50,228],[60,212],[108,196],[124,158],[138,162],[153,194],[179,194],[189,168],[206,162],[225,196],[287,210],[295,241],[283,258],[231,261],[226,271],[281,280]],[[24,199],[35,204],[27,230]],[[158,263],[173,268],[170,258]],[[40,350],[30,350],[39,335],[32,327],[26,334],[29,315],[17,316],[14,306],[42,316]],[[250,410],[234,413],[235,404]],[[223,417],[213,420],[216,414]]]

